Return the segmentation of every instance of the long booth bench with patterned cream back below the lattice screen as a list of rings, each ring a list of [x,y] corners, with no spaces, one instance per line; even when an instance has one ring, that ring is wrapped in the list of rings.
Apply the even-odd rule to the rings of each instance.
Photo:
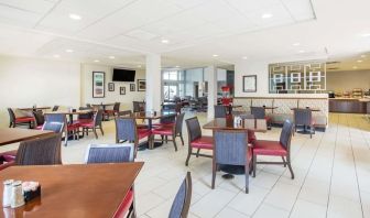
[[[283,124],[285,120],[293,121],[293,108],[314,108],[319,111],[313,111],[315,128],[326,129],[328,126],[329,102],[328,98],[274,98],[274,97],[237,97],[233,99],[235,105],[242,105],[238,108],[238,113],[250,113],[251,107],[269,107],[266,116],[271,118],[272,124]]]

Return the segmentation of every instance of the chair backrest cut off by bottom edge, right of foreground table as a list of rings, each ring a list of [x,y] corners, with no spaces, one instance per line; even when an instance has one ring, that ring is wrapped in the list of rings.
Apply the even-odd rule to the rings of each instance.
[[[192,175],[191,172],[186,173],[175,199],[171,206],[168,218],[185,218],[187,217],[192,201]]]

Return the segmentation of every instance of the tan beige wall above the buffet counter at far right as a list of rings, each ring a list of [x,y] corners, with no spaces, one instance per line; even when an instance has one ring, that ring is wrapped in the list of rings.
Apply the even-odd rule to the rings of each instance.
[[[328,72],[327,89],[335,91],[352,90],[353,88],[370,88],[370,70]]]

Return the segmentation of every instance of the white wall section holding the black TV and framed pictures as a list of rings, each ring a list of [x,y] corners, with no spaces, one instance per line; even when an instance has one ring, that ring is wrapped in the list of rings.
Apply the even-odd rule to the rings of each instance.
[[[145,91],[138,91],[137,79],[145,79],[144,70],[137,70],[132,83],[112,81],[112,66],[83,64],[81,65],[81,105],[121,102],[121,110],[132,109],[133,100],[144,100]],[[106,73],[106,97],[92,98],[92,72]],[[108,91],[108,83],[115,84],[115,91]],[[135,84],[135,90],[130,91],[130,84]],[[120,95],[120,87],[126,87],[126,95]],[[159,87],[160,88],[160,87]],[[161,89],[159,89],[160,91]]]

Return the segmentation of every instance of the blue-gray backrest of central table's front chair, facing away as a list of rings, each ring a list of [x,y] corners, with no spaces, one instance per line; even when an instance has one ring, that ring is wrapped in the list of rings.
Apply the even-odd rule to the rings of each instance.
[[[248,152],[246,131],[216,130],[214,132],[214,159],[218,164],[244,165]]]

